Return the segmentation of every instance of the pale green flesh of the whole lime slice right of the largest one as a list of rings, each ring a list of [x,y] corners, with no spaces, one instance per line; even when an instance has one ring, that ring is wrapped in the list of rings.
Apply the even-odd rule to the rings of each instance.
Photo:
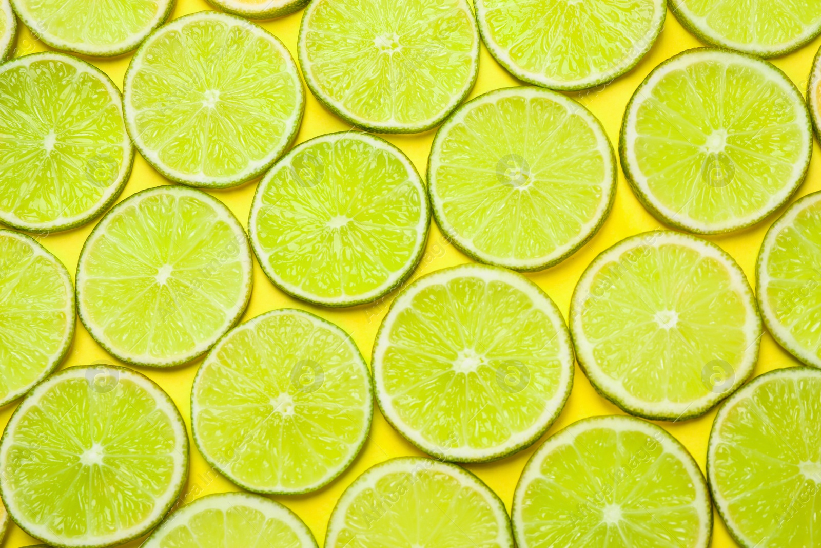
[[[727,266],[689,246],[624,251],[594,274],[579,313],[596,368],[648,403],[704,398],[704,368],[739,371],[751,344]]]

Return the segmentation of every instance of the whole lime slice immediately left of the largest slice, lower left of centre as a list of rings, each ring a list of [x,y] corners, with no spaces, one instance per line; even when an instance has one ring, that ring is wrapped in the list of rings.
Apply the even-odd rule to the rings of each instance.
[[[233,329],[205,358],[191,427],[205,460],[238,486],[306,493],[351,464],[373,401],[368,366],[348,334],[282,309]]]

